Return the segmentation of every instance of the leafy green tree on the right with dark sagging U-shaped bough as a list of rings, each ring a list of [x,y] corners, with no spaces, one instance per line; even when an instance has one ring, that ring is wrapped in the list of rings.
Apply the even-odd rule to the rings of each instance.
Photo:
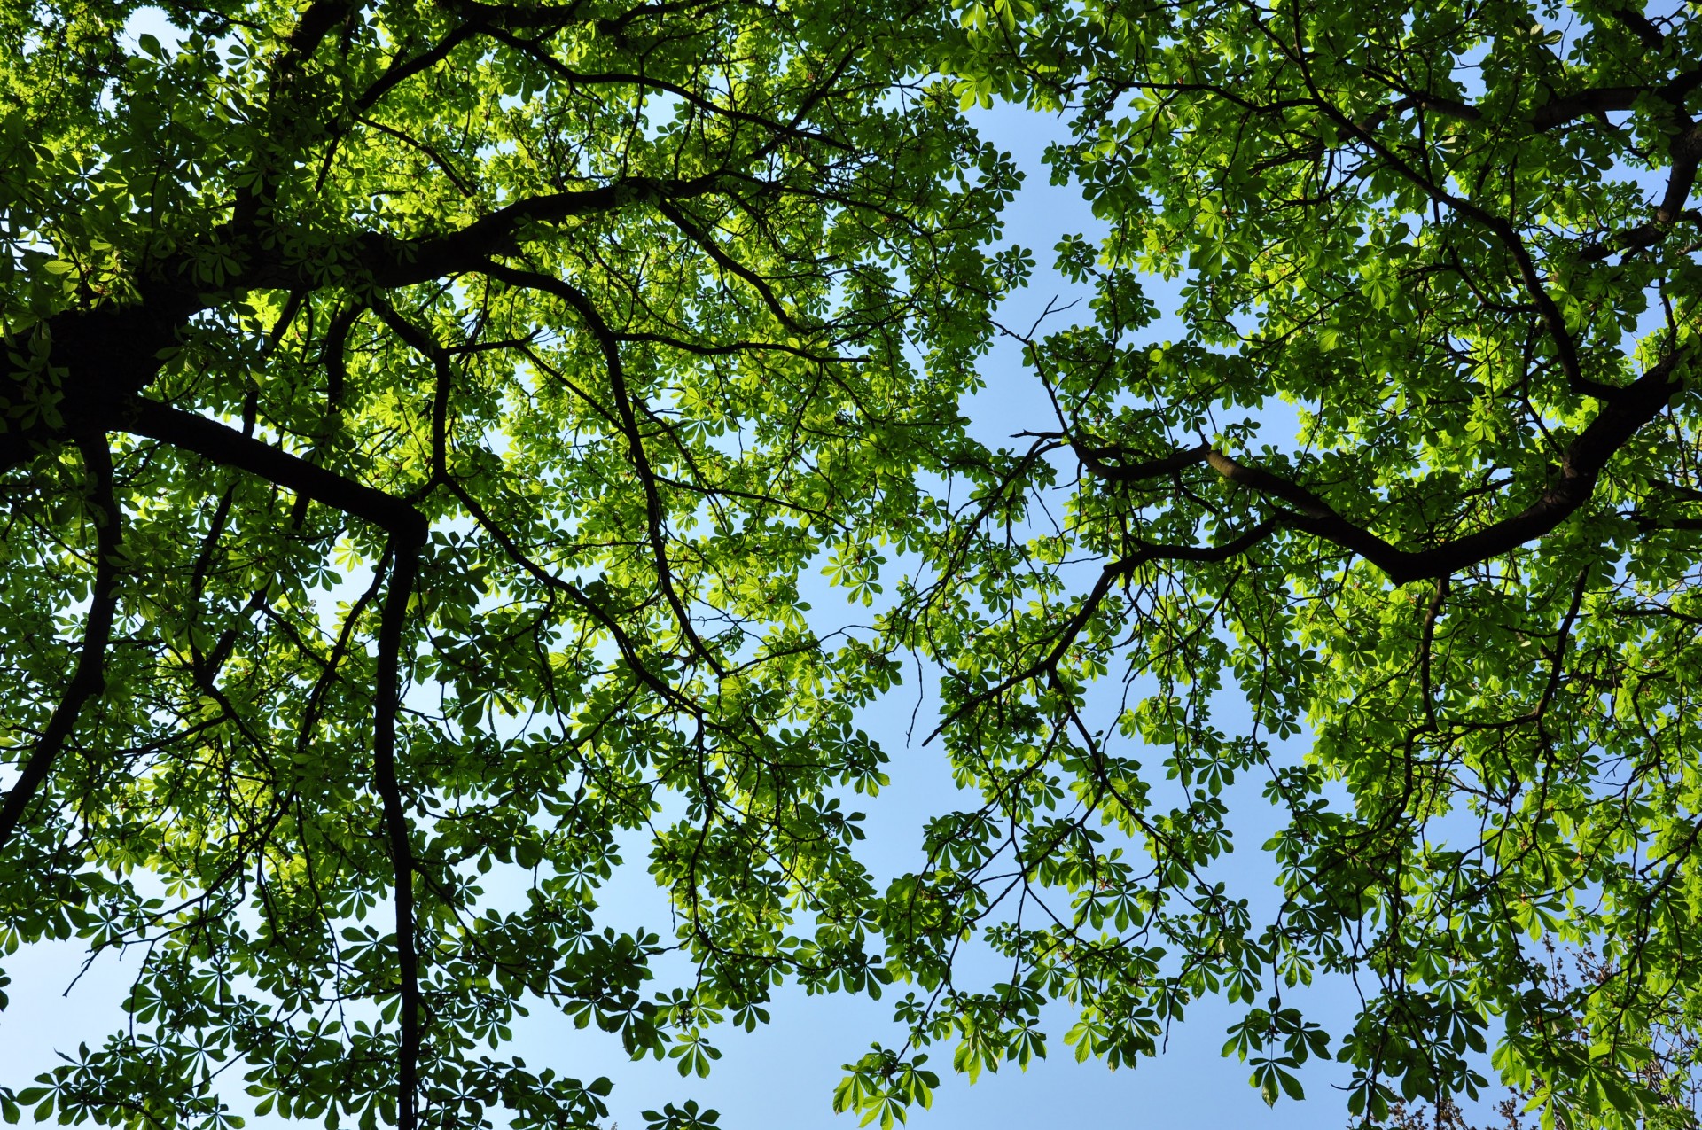
[[[1091,311],[1009,330],[1055,424],[890,621],[980,790],[888,899],[911,1047],[1026,1062],[1065,999],[1118,1064],[1220,994],[1270,1101],[1334,1055],[1375,1123],[1498,1074],[1544,1125],[1693,1125],[1693,5],[962,10],[960,95],[1065,112],[1108,235],[1057,248]],[[1268,912],[1222,878],[1254,788]]]

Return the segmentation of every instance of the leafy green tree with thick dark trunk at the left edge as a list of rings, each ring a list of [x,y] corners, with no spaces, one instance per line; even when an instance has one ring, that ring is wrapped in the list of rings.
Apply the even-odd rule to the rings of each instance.
[[[895,674],[798,575],[934,521],[1023,271],[950,14],[0,12],[0,933],[143,955],[7,1120],[587,1125],[488,1053],[528,1002],[701,1074],[887,977],[841,795]],[[633,829],[674,939],[594,921]]]

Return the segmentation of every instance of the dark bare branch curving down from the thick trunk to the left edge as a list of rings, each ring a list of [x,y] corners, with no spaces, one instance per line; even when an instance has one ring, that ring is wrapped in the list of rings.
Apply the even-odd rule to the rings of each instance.
[[[48,728],[36,740],[24,771],[19,774],[5,803],[0,805],[0,849],[12,839],[24,808],[48,779],[53,761],[77,727],[77,718],[89,699],[106,689],[106,650],[112,638],[112,618],[117,609],[117,553],[124,536],[123,511],[112,495],[112,453],[106,436],[90,436],[77,444],[89,471],[89,497],[95,522],[95,579],[90,587],[89,616],[83,621],[83,647],[77,659],[77,672],[65,688],[65,696],[48,718]]]

